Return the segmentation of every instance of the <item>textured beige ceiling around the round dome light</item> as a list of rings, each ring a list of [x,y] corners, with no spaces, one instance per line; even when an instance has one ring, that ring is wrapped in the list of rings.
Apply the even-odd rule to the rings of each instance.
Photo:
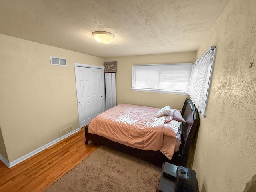
[[[194,51],[229,1],[1,0],[0,34],[102,58]]]

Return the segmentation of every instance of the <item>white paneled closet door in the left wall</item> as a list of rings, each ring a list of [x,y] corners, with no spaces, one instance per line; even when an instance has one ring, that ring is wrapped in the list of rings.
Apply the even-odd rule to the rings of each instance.
[[[77,94],[80,127],[86,126],[102,108],[102,70],[78,67]]]

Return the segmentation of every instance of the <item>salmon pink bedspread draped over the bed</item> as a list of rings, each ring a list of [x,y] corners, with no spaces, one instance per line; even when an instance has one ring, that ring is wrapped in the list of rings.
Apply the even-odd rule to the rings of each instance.
[[[164,135],[165,116],[156,118],[158,108],[119,104],[96,116],[88,132],[143,150],[160,150],[172,158],[176,136]]]

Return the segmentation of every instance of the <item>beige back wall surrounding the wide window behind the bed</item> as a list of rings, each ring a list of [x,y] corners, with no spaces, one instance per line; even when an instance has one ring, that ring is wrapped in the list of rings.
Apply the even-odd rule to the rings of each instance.
[[[189,96],[132,91],[132,66],[140,64],[186,63],[194,62],[195,60],[196,52],[128,56],[104,59],[105,62],[117,61],[117,104],[128,103],[156,108],[162,108],[166,105],[170,105],[171,108],[176,108],[179,110],[182,109],[185,99]]]

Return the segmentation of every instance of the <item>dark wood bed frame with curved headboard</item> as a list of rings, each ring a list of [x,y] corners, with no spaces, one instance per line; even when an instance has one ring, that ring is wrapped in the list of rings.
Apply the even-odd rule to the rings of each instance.
[[[164,162],[170,162],[175,165],[181,165],[181,166],[187,167],[189,149],[192,144],[192,141],[195,138],[196,130],[199,127],[198,110],[190,98],[186,98],[181,114],[184,120],[186,121],[182,123],[182,127],[181,127],[181,130],[182,130],[181,143],[182,144],[180,145],[179,151],[174,152],[174,155],[171,160],[169,160],[159,150],[151,151],[151,150],[136,149],[136,148],[132,148],[132,147],[114,142],[105,137],[88,133],[88,126],[86,126],[85,128],[85,138],[86,138],[85,144],[88,144],[88,141],[92,141],[95,144],[104,145],[114,150],[124,152],[126,154],[146,160],[160,167],[162,167],[162,164]]]

